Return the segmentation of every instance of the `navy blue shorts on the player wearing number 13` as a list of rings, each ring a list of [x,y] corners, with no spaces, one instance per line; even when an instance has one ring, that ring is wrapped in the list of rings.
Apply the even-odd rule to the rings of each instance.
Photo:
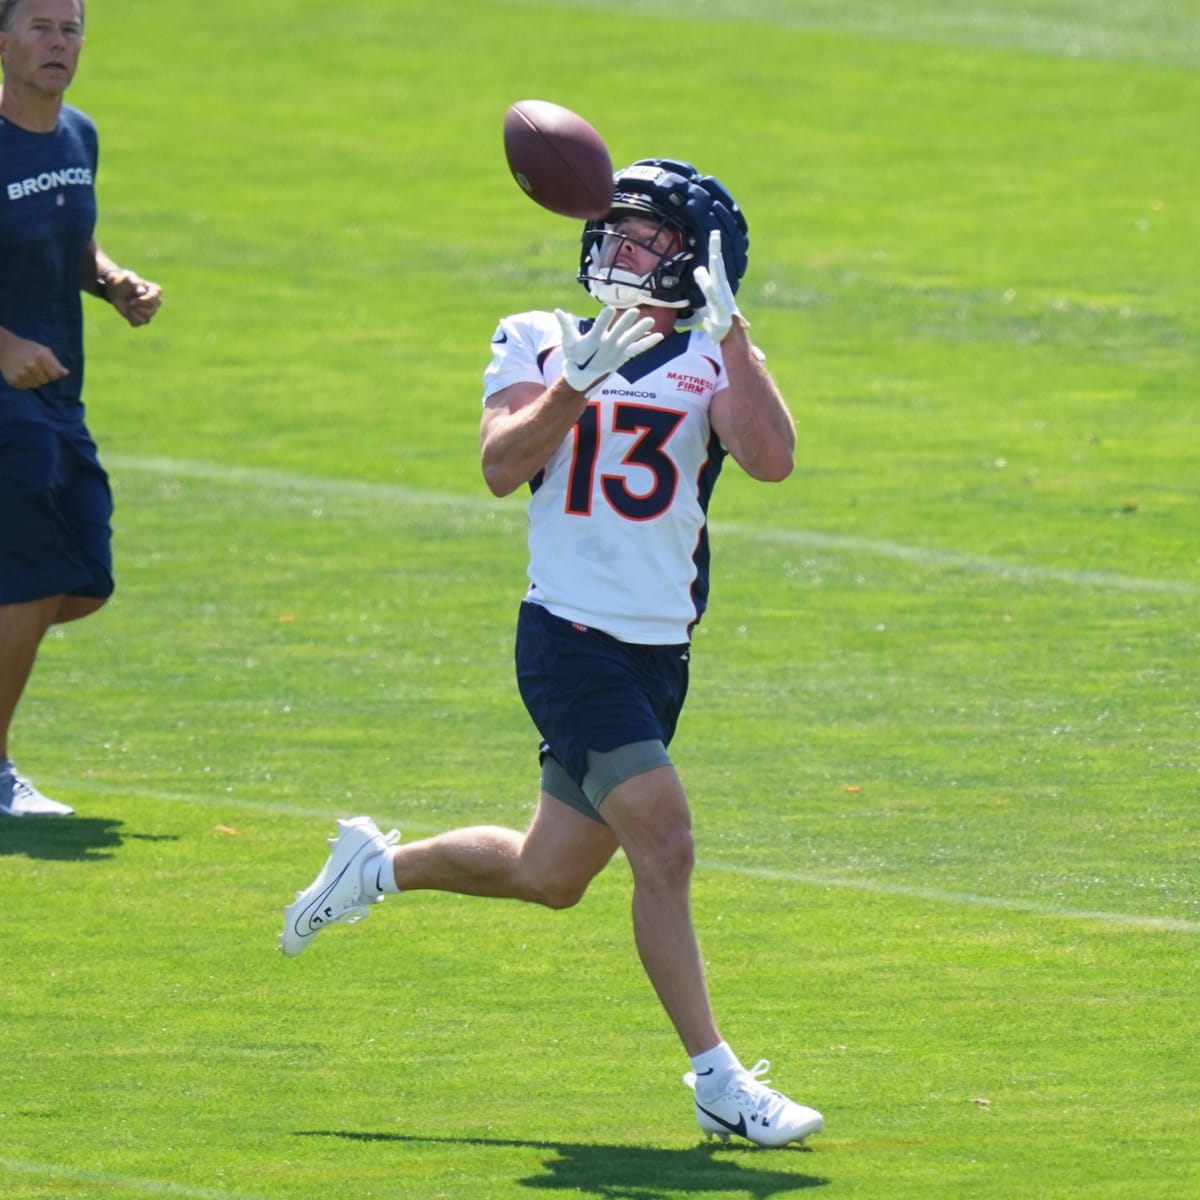
[[[523,602],[517,686],[551,755],[581,787],[588,751],[671,744],[688,696],[690,648],[638,646]]]

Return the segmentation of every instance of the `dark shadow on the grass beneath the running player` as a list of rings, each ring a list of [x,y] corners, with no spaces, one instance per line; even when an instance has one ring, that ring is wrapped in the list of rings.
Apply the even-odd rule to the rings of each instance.
[[[829,1180],[794,1171],[768,1170],[810,1151],[799,1146],[768,1152],[755,1146],[694,1146],[690,1150],[654,1150],[646,1146],[587,1146],[558,1141],[509,1141],[503,1138],[415,1138],[392,1133],[354,1133],[312,1129],[298,1138],[342,1138],[348,1141],[410,1142],[413,1145],[499,1146],[552,1151],[545,1175],[517,1180],[527,1188],[575,1192],[606,1200],[670,1200],[680,1192],[724,1192],[730,1195],[769,1196],[820,1188]]]

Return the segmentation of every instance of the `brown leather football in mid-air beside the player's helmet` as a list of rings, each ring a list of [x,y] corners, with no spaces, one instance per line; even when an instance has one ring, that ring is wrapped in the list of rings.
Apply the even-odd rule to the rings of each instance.
[[[544,209],[598,221],[612,208],[612,158],[578,113],[520,100],[504,114],[504,155],[521,191]]]

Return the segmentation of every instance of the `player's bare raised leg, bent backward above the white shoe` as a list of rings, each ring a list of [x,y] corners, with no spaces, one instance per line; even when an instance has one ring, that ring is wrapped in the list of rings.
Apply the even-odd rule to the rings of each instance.
[[[523,834],[475,826],[390,853],[401,892],[456,892],[569,908],[616,851],[610,829],[544,792]]]

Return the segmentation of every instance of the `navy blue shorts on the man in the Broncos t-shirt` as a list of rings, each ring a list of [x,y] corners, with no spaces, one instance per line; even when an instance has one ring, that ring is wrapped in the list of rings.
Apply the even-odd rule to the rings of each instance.
[[[113,594],[113,494],[83,425],[0,415],[0,605]]]

